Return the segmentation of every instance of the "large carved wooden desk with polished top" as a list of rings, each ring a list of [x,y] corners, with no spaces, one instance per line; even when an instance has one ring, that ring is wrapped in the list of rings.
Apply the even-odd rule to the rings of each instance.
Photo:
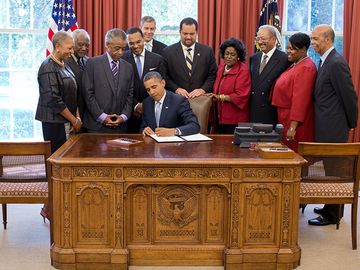
[[[260,159],[232,136],[129,149],[111,138],[73,137],[49,159],[56,268],[299,265],[301,157]]]

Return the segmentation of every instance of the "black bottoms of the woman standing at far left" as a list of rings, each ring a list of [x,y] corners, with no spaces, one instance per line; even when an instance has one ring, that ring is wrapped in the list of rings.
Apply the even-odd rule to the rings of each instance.
[[[43,137],[51,143],[51,153],[54,153],[66,142],[64,123],[42,122]]]

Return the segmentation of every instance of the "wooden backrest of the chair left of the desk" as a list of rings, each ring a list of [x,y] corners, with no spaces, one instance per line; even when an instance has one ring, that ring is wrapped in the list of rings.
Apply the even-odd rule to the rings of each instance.
[[[0,142],[0,182],[46,182],[50,142]]]

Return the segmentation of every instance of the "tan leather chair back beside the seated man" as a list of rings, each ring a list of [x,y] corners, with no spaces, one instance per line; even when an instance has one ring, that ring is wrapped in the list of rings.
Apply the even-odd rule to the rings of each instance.
[[[200,133],[208,133],[208,122],[209,122],[209,113],[211,107],[211,97],[208,96],[198,96],[196,98],[189,98],[190,107],[196,115],[199,125]]]

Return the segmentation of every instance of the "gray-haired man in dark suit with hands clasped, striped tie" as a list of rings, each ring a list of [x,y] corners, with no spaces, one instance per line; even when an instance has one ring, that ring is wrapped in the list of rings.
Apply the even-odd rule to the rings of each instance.
[[[134,72],[121,59],[126,48],[125,32],[118,28],[109,30],[105,47],[103,55],[88,60],[83,75],[83,122],[88,132],[126,133],[126,121],[132,111]]]

